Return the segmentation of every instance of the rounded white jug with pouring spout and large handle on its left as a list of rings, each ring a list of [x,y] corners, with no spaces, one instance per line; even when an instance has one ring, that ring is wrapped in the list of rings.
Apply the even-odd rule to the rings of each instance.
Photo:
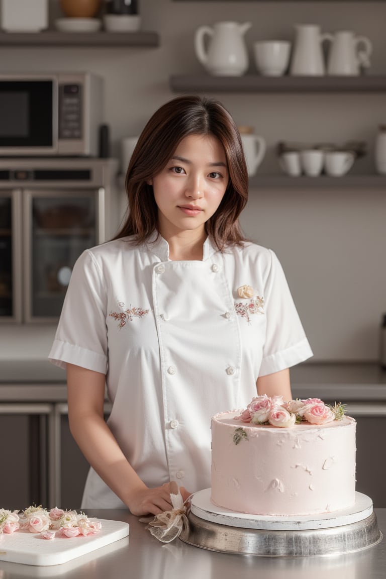
[[[201,26],[194,36],[196,56],[207,71],[216,76],[241,76],[248,68],[248,52],[244,34],[252,24],[218,22],[213,28]],[[205,50],[204,36],[211,36]]]

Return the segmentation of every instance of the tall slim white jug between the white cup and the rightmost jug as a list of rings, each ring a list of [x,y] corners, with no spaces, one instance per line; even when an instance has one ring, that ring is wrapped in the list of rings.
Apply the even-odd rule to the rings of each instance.
[[[331,34],[321,34],[317,24],[295,24],[295,45],[289,72],[291,75],[322,76],[325,63],[322,51],[324,40],[332,41]]]

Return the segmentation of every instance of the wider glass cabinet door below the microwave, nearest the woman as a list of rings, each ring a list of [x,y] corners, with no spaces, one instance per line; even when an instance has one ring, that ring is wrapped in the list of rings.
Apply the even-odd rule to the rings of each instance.
[[[100,243],[100,194],[100,190],[24,191],[25,321],[54,321],[60,316],[76,259]]]

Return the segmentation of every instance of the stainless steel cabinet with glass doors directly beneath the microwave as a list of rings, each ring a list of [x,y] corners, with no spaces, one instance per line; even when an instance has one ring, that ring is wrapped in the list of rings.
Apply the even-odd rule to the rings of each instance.
[[[115,232],[117,162],[13,159],[8,170],[2,164],[0,321],[56,321],[76,259]]]

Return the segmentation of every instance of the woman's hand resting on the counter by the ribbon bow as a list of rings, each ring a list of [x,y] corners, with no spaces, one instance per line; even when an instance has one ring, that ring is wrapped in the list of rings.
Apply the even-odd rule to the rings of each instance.
[[[182,500],[188,499],[190,493],[183,486],[179,490]],[[159,515],[161,512],[172,510],[171,492],[172,489],[169,482],[153,489],[140,488],[130,493],[130,501],[127,506],[133,515]]]

